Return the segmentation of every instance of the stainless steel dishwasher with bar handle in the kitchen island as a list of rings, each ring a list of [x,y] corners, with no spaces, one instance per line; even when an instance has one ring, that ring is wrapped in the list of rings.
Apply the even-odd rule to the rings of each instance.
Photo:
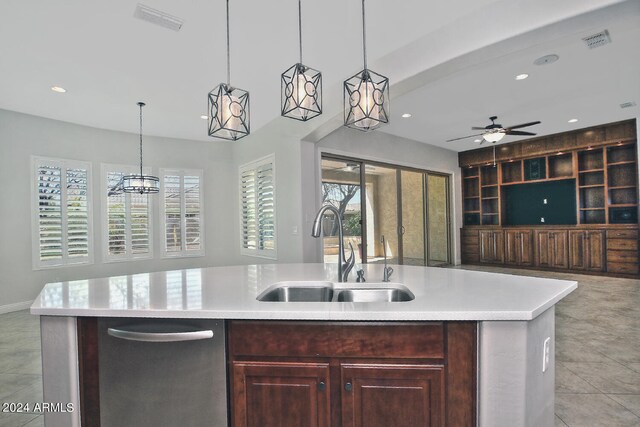
[[[102,318],[100,424],[227,426],[224,322]]]

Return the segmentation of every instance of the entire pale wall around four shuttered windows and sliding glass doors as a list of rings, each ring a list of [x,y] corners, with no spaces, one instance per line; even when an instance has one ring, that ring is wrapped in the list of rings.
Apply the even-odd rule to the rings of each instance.
[[[317,262],[319,243],[310,235],[320,201],[320,155],[333,152],[450,173],[456,207],[452,243],[455,259],[461,214],[457,153],[397,138],[382,132],[362,133],[340,127],[319,142],[301,141],[308,123],[276,119],[239,141],[198,142],[145,136],[144,164],[159,168],[203,169],[205,176],[204,257],[160,257],[159,210],[154,210],[154,257],[150,260],[103,262],[100,225],[100,164],[136,164],[138,136],[79,126],[0,110],[0,312],[27,308],[47,282],[162,271],[179,268],[270,263],[240,255],[238,166],[276,155],[278,259],[275,262]],[[93,170],[94,263],[33,270],[31,260],[31,156],[89,161]],[[152,196],[154,197],[154,196]]]

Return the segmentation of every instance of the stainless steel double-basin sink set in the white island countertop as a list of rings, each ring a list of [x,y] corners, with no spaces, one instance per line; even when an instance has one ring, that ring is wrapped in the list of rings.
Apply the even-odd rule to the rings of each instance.
[[[285,281],[265,289],[258,301],[271,302],[406,302],[415,298],[400,283],[334,283]]]

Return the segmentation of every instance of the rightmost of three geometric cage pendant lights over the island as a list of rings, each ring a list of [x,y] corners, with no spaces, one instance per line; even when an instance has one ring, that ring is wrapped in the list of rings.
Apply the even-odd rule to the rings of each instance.
[[[344,82],[344,125],[368,131],[389,123],[389,79],[367,69],[367,40],[362,0],[364,69]]]

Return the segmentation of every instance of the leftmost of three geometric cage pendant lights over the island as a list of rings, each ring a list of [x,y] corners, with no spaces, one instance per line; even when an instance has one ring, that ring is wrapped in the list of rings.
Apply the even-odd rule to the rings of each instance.
[[[227,0],[227,82],[209,92],[209,136],[238,140],[249,135],[249,92],[231,86]]]

